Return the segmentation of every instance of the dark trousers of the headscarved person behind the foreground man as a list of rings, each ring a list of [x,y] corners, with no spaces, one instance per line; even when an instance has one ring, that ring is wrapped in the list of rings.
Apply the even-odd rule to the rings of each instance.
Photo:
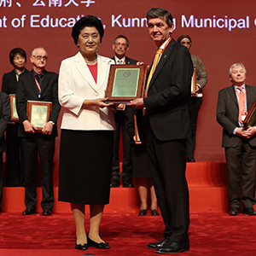
[[[201,107],[202,97],[191,97],[191,120],[193,125],[193,136],[187,139],[187,158],[195,159],[195,137],[196,137],[196,123]]]

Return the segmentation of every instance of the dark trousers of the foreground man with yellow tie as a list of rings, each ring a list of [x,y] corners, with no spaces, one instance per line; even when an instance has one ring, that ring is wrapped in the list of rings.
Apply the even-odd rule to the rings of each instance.
[[[164,236],[189,241],[189,189],[185,177],[186,139],[159,141],[149,129],[148,156],[152,164],[155,194],[166,225]]]

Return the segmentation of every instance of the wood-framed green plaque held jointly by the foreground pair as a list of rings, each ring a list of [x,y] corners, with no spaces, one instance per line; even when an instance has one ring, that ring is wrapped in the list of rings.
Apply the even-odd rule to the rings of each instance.
[[[146,65],[111,65],[105,94],[108,102],[127,103],[143,98],[146,75]]]

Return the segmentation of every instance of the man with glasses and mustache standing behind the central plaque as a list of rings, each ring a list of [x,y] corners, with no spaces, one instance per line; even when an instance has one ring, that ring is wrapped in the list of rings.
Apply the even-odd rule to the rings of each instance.
[[[129,49],[129,40],[123,35],[119,35],[113,41],[114,56],[113,61],[116,64],[136,64],[137,61],[132,60],[125,56],[126,51]],[[123,187],[134,188],[132,183],[132,170],[131,170],[131,138],[126,131],[127,114],[125,111],[125,104],[120,104],[114,113],[115,127],[113,137],[113,169],[111,187],[119,187],[120,184],[120,168],[119,168],[119,139],[120,131],[122,130],[123,139],[123,166],[122,166],[122,180]]]

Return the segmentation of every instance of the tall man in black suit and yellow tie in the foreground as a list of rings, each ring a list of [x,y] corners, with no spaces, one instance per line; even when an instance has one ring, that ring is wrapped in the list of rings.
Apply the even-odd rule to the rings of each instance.
[[[160,61],[155,70],[154,65],[150,67],[145,97],[128,104],[144,108],[143,127],[147,133],[154,189],[166,225],[165,238],[147,247],[157,253],[181,253],[189,251],[189,189],[185,171],[186,139],[192,134],[193,64],[189,50],[172,38],[174,26],[168,11],[150,9],[147,20],[149,36],[158,48]]]

